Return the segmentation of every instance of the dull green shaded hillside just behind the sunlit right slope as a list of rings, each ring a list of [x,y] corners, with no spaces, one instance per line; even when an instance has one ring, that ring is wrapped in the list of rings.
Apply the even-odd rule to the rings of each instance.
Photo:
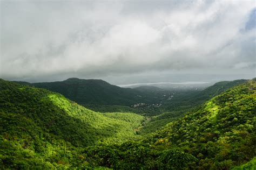
[[[163,102],[163,107],[159,109],[161,110],[160,114],[153,115],[148,119],[147,123],[140,130],[140,134],[159,130],[162,126],[184,116],[186,112],[197,111],[200,104],[203,104],[210,98],[244,82],[246,80],[222,81],[203,91],[176,91],[176,95],[174,95],[172,100]]]

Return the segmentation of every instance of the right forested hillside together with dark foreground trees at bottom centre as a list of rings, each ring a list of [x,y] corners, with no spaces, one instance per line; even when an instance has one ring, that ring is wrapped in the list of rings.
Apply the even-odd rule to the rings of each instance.
[[[94,164],[116,169],[255,169],[255,113],[254,79],[172,120],[142,142],[86,152]]]

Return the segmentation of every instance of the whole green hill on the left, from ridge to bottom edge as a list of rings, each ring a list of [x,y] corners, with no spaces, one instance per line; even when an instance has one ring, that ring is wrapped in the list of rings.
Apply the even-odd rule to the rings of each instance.
[[[49,90],[0,79],[0,167],[73,166],[79,147],[137,140],[142,121],[136,114],[100,114]]]

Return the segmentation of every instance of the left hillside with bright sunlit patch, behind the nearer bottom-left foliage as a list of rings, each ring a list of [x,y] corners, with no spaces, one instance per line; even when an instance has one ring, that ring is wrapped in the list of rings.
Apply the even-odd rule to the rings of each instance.
[[[31,119],[45,132],[70,141],[76,146],[86,146],[108,141],[118,142],[134,137],[134,124],[143,117],[127,114],[133,121],[105,116],[88,110],[60,94],[15,83],[0,81],[0,111],[14,113]],[[120,116],[122,117],[122,116]],[[122,131],[122,136],[114,138]]]

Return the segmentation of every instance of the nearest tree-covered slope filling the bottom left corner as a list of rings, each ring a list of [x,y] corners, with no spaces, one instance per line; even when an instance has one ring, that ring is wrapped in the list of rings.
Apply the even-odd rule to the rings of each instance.
[[[3,169],[69,168],[78,148],[51,136],[31,119],[0,112],[0,167]]]

